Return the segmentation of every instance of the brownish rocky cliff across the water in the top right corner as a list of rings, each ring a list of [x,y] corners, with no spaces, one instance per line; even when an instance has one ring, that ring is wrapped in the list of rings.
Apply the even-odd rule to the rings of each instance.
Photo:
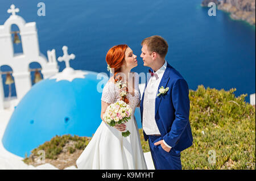
[[[216,0],[204,0],[203,5]],[[255,0],[223,0],[216,3],[219,10],[230,12],[230,17],[236,20],[245,20],[255,26]]]

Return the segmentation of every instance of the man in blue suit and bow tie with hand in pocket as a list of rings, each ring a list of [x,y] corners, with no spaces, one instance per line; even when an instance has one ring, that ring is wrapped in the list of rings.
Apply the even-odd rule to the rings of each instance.
[[[141,45],[144,66],[151,68],[141,100],[144,139],[155,169],[181,169],[180,151],[193,142],[188,85],[165,60],[168,44],[163,37],[147,37]]]

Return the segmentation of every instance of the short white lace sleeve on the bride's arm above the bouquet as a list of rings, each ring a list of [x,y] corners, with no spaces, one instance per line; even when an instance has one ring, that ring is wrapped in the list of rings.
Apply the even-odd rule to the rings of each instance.
[[[105,103],[112,104],[116,97],[115,84],[113,82],[107,82],[102,91],[101,100]]]

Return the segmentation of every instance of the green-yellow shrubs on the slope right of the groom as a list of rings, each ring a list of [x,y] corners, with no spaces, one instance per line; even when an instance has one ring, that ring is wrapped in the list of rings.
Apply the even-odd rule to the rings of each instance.
[[[255,169],[255,108],[245,102],[247,95],[236,98],[234,91],[202,85],[189,90],[193,145],[181,152],[183,169]],[[146,152],[148,142],[140,133]],[[215,164],[208,162],[214,158],[210,150]]]

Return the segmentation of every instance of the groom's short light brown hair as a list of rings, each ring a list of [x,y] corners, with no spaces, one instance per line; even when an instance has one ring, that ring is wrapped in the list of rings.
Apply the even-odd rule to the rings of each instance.
[[[147,48],[150,52],[158,53],[162,58],[166,57],[168,52],[168,43],[163,37],[155,35],[146,37],[146,39],[142,40],[141,45],[147,45]]]

